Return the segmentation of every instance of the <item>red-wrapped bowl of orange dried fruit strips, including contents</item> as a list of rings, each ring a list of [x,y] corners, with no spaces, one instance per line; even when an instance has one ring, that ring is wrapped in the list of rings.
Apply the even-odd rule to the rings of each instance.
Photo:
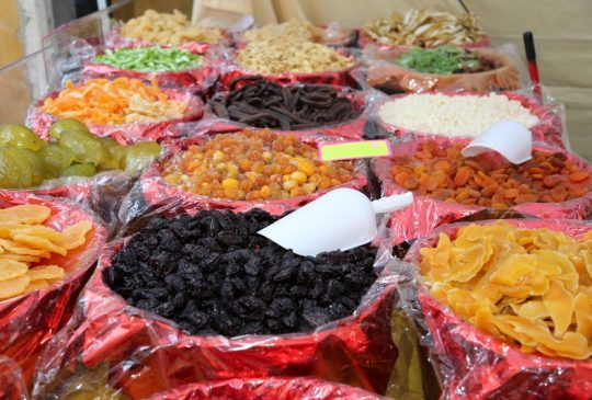
[[[43,138],[60,118],[87,124],[95,136],[112,136],[121,144],[162,140],[167,128],[203,114],[202,101],[187,92],[160,89],[155,77],[150,84],[139,79],[93,78],[66,87],[38,101],[27,116],[27,125]]]

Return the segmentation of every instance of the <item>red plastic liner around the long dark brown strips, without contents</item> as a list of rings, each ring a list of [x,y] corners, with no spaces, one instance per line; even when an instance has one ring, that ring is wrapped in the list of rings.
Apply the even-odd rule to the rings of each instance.
[[[294,135],[303,139],[323,135],[328,139],[334,137],[348,140],[362,140],[364,136],[364,127],[366,126],[367,116],[369,114],[369,110],[372,108],[372,104],[374,103],[374,101],[382,98],[383,94],[373,89],[365,91],[352,90],[349,87],[333,87],[333,89],[340,91],[342,96],[348,98],[357,110],[363,110],[362,114],[360,114],[354,119],[341,122],[338,124],[323,125],[315,128],[298,130],[274,129],[274,133],[278,135]],[[215,94],[215,98],[226,98],[228,92],[218,92]],[[206,105],[204,117],[200,122],[200,127],[202,129],[207,129],[210,133],[236,132],[248,126],[249,125],[217,116],[209,104]]]

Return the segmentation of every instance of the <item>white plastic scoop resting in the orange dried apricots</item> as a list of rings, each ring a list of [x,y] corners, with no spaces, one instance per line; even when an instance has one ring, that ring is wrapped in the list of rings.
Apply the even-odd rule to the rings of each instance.
[[[514,164],[521,164],[533,158],[533,135],[519,123],[502,121],[491,125],[485,134],[468,144],[462,153],[474,157],[491,150]]]

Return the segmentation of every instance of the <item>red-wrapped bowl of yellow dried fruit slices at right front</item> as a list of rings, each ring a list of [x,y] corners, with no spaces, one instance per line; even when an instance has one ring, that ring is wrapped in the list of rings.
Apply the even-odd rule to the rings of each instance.
[[[433,332],[445,396],[587,397],[589,232],[568,220],[487,221],[443,227],[411,248],[415,271],[402,271],[401,294]]]

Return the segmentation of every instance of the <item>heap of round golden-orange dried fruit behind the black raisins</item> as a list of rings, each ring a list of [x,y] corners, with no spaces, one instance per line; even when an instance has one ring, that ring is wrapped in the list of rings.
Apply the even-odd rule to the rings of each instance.
[[[187,193],[241,201],[303,196],[354,178],[352,162],[321,162],[314,147],[267,129],[190,146],[164,161],[160,174]]]

